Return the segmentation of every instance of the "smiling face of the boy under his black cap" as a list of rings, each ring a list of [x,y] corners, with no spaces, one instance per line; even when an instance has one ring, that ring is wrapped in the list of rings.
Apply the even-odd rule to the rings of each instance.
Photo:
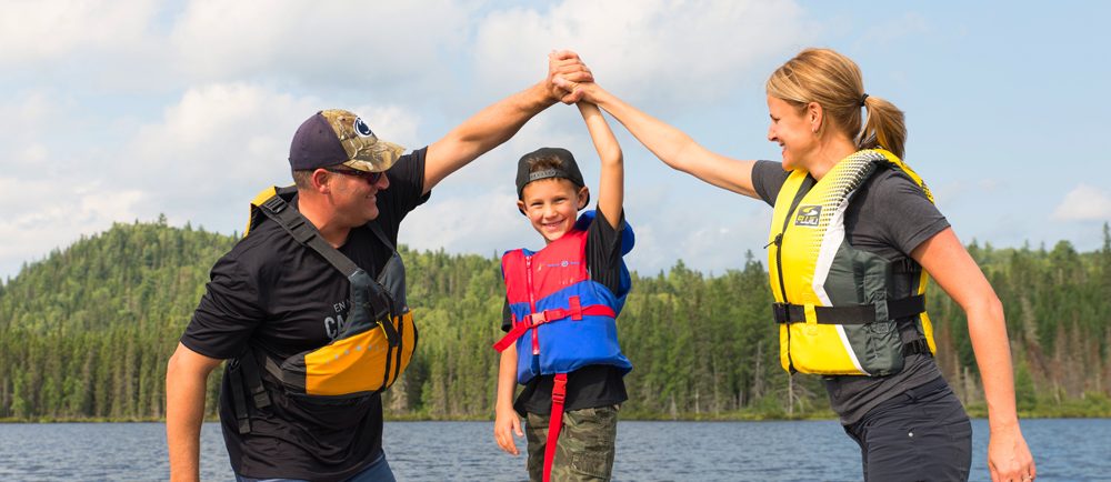
[[[579,210],[587,204],[587,188],[567,179],[550,178],[524,185],[518,208],[529,217],[532,228],[552,242],[574,227]]]

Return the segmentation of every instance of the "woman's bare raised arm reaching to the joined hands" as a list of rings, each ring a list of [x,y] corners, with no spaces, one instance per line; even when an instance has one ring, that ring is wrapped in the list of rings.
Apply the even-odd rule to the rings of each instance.
[[[579,82],[558,76],[557,87],[573,92],[574,98],[595,103],[621,122],[640,143],[671,168],[702,181],[750,198],[754,161],[741,161],[711,152],[679,129],[622,101],[593,82]]]

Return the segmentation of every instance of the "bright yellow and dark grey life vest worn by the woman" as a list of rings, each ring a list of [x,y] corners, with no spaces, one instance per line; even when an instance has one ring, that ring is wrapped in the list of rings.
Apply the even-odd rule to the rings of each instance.
[[[768,272],[788,372],[879,376],[902,370],[908,354],[937,351],[921,265],[855,249],[845,237],[845,209],[882,167],[905,174],[933,202],[914,171],[879,149],[842,159],[820,181],[795,170],[775,198]]]

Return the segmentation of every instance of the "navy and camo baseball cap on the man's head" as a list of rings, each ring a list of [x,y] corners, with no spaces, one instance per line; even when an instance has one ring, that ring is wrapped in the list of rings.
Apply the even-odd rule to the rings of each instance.
[[[289,147],[289,165],[294,171],[343,164],[379,172],[390,169],[404,151],[401,145],[378,139],[359,116],[329,109],[317,112],[297,129]]]

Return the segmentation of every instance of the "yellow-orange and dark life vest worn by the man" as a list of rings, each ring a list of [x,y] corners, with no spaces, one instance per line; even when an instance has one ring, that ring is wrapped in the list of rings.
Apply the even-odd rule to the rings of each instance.
[[[264,219],[281,225],[298,243],[312,249],[339,270],[350,282],[350,311],[339,334],[330,343],[286,360],[274,360],[248,349],[229,370],[236,399],[240,433],[250,432],[243,391],[249,391],[256,408],[270,404],[260,368],[280,384],[286,393],[321,399],[370,396],[390,388],[401,376],[417,349],[417,327],[406,303],[406,270],[393,243],[377,222],[367,227],[392,251],[372,279],[348,257],[331,247],[320,232],[289,202],[296,188],[268,188],[251,201],[251,217],[243,235]]]

